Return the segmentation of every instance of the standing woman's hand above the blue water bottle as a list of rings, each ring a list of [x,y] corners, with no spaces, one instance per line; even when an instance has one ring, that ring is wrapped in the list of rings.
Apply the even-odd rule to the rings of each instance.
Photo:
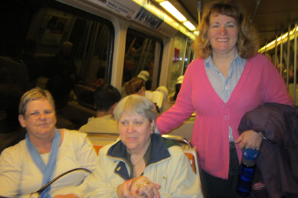
[[[244,131],[237,140],[234,141],[235,144],[239,144],[239,149],[242,150],[244,148],[252,148],[259,150],[261,146],[261,142],[263,140],[263,134],[257,133],[255,131],[249,130]]]

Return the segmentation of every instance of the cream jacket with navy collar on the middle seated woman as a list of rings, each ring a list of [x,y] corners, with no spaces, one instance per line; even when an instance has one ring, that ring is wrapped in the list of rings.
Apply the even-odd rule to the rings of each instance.
[[[181,147],[156,134],[151,136],[151,141],[151,156],[154,157],[151,157],[143,175],[161,185],[161,197],[203,197],[199,179]],[[125,153],[126,146],[121,140],[101,148],[84,197],[117,197],[117,187],[130,179]]]

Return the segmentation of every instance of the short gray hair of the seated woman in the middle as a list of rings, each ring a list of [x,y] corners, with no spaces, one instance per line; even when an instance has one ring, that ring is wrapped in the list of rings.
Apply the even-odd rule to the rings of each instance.
[[[120,100],[114,109],[115,120],[119,122],[123,114],[141,115],[150,122],[154,121],[153,127],[155,128],[155,121],[157,119],[155,104],[143,96],[132,94]]]

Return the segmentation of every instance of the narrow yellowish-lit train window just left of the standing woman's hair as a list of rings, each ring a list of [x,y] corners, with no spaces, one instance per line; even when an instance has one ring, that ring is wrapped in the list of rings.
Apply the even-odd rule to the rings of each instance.
[[[172,61],[170,61],[168,91],[169,95],[175,92],[177,78],[184,74],[188,64],[192,61],[193,53],[190,41],[184,36],[176,34],[172,49]]]

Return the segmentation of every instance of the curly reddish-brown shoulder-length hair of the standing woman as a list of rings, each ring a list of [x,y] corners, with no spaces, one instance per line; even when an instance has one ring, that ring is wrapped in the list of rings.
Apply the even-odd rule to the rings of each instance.
[[[210,15],[218,14],[232,17],[237,21],[238,26],[238,40],[237,52],[241,58],[252,58],[255,56],[259,49],[259,37],[257,30],[250,23],[246,16],[246,11],[236,1],[212,1],[206,5],[203,10],[203,17],[201,23],[197,28],[199,35],[192,45],[195,54],[199,58],[208,58],[212,54],[212,47],[209,39],[210,29]]]

